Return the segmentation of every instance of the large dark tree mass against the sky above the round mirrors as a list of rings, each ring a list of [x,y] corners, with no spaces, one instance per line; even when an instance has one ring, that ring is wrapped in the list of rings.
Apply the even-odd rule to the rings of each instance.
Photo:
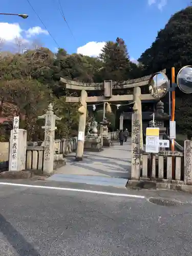
[[[170,17],[157,34],[152,46],[138,59],[146,72],[153,73],[172,67],[178,71],[192,63],[192,8],[187,7]]]

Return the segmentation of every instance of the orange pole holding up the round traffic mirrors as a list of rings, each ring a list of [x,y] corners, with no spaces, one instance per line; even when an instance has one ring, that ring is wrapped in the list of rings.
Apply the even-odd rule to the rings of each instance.
[[[172,68],[172,83],[175,83],[175,68]],[[172,91],[172,121],[175,121],[175,89]],[[175,140],[172,139],[172,152],[175,151]],[[175,179],[175,157],[172,157],[172,179]]]

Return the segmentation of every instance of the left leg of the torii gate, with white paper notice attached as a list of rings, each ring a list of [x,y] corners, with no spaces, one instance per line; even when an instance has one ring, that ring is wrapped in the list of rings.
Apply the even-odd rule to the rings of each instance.
[[[79,112],[79,124],[78,124],[78,141],[75,161],[82,161],[84,151],[84,132],[86,131],[86,117],[87,117],[87,99],[88,93],[85,90],[81,91],[81,106]]]

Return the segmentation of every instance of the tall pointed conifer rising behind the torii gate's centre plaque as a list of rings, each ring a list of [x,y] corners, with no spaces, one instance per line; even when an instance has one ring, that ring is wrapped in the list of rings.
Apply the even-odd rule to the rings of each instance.
[[[126,80],[129,78],[130,59],[124,40],[108,41],[99,55],[103,62],[100,77],[103,80]]]

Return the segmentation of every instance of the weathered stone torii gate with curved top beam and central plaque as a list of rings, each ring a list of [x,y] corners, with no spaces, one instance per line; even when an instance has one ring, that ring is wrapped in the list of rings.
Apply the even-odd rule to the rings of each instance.
[[[166,70],[160,71],[166,73]],[[117,82],[117,81],[104,81],[103,83],[80,83],[65,78],[60,78],[66,89],[73,91],[81,91],[80,97],[67,97],[66,102],[77,103],[80,102],[81,106],[79,112],[82,115],[79,116],[78,124],[78,142],[77,142],[77,151],[76,151],[76,161],[81,161],[83,159],[83,149],[84,149],[84,132],[86,130],[86,115],[87,115],[87,103],[96,104],[97,102],[121,102],[121,101],[130,101],[134,103],[133,111],[134,113],[139,114],[140,119],[140,145],[143,145],[142,138],[142,109],[141,101],[142,100],[154,100],[154,97],[151,94],[141,94],[141,86],[147,86],[148,82],[152,78],[153,74],[144,76],[137,79]],[[115,90],[129,90],[133,89],[133,94],[125,95],[113,95]],[[90,91],[102,91],[102,96],[90,96],[88,93]]]

